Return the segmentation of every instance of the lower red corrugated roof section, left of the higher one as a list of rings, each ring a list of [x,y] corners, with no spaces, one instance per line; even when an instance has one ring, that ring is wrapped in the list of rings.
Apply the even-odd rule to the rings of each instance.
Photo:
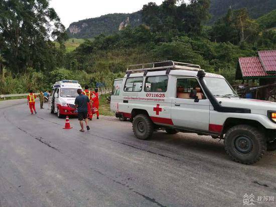
[[[263,77],[267,74],[258,57],[240,57],[239,66],[242,77]]]

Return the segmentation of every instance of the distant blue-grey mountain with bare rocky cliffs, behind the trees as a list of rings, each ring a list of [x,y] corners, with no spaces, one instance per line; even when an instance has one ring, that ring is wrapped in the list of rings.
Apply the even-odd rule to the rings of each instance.
[[[224,16],[229,8],[234,10],[247,8],[250,17],[257,19],[275,10],[276,0],[211,0],[209,24],[213,24]],[[67,33],[70,38],[93,38],[102,33],[110,35],[127,25],[138,26],[141,24],[141,11],[132,14],[108,14],[71,23]]]

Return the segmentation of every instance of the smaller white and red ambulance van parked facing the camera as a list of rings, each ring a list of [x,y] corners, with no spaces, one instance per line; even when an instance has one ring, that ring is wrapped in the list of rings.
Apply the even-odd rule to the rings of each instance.
[[[56,113],[58,118],[66,115],[77,116],[75,99],[78,96],[77,89],[82,89],[77,80],[61,80],[53,85],[49,97],[49,110]]]

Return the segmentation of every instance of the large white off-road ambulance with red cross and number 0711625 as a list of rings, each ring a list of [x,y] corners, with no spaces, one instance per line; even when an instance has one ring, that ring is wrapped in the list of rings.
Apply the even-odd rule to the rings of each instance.
[[[111,110],[146,140],[165,130],[224,139],[227,154],[252,164],[276,149],[276,103],[242,99],[227,80],[199,65],[163,61],[129,66],[114,81]]]

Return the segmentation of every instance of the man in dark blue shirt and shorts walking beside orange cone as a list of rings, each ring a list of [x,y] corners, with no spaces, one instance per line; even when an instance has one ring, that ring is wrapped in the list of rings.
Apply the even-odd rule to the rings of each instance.
[[[87,131],[89,131],[90,128],[88,126],[88,119],[87,119],[87,112],[88,112],[87,103],[90,102],[90,100],[87,95],[82,94],[81,89],[78,89],[77,92],[79,96],[77,96],[75,99],[75,109],[78,109],[78,118],[81,126],[80,132],[84,132],[83,120],[85,120],[86,129]]]

